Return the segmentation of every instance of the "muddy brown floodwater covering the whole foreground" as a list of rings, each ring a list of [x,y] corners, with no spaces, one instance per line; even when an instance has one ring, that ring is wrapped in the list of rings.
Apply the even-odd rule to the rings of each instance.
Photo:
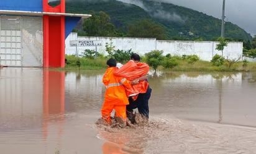
[[[96,125],[104,71],[0,69],[0,153],[255,153],[256,73],[157,72],[146,126]]]

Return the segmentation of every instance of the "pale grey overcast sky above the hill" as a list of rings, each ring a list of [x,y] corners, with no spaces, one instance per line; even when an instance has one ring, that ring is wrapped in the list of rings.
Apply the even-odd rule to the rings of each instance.
[[[136,0],[117,0],[122,2],[138,2]],[[151,0],[152,1],[152,0]],[[222,18],[223,0],[155,0],[188,7],[218,19]],[[238,25],[247,33],[256,35],[256,0],[225,0],[225,15],[228,22]]]

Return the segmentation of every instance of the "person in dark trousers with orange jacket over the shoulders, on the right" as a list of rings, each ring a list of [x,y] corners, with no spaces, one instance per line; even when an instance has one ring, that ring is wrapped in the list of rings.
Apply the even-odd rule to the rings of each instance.
[[[149,65],[145,62],[140,62],[139,54],[133,53],[130,56],[130,61],[124,64],[114,72],[117,77],[126,77],[127,80],[138,80],[137,84],[132,85],[134,93],[139,93],[135,96],[129,96],[129,105],[126,106],[127,118],[134,124],[134,109],[138,108],[139,113],[149,119],[149,98],[152,88],[147,81],[147,73]]]

